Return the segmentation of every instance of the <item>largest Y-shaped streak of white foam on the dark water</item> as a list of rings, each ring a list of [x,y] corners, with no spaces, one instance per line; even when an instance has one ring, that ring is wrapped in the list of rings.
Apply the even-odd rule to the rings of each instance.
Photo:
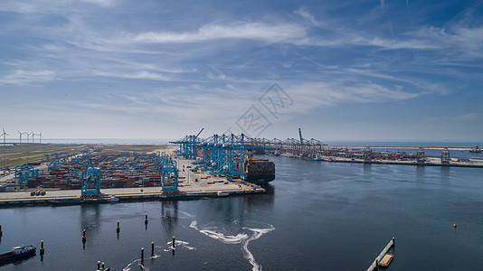
[[[255,257],[253,257],[253,254],[251,254],[250,250],[248,249],[248,245],[252,240],[256,240],[260,237],[262,237],[264,234],[269,233],[270,231],[274,230],[272,225],[267,225],[268,228],[264,229],[252,229],[252,228],[242,228],[246,230],[250,230],[253,232],[253,234],[249,237],[247,233],[239,233],[236,236],[232,235],[225,235],[223,232],[217,231],[213,229],[213,227],[210,227],[210,229],[199,229],[198,228],[198,221],[193,220],[190,224],[190,228],[195,229],[204,235],[217,239],[222,241],[224,244],[240,244],[242,243],[242,252],[243,252],[243,257],[248,259],[250,262],[252,271],[259,271],[261,270],[261,266],[257,263],[255,260]]]

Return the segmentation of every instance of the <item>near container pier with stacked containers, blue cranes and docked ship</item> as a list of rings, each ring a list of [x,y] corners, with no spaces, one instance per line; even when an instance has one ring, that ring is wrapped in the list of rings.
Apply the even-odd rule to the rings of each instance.
[[[196,136],[197,137],[197,136]],[[0,206],[118,201],[173,201],[263,193],[259,184],[274,179],[274,164],[251,156],[244,135],[223,135],[216,144],[193,135],[150,153],[44,154],[42,162],[17,164],[0,179]],[[196,154],[199,156],[196,156]],[[251,181],[251,182],[249,182]],[[109,201],[108,201],[109,202]]]

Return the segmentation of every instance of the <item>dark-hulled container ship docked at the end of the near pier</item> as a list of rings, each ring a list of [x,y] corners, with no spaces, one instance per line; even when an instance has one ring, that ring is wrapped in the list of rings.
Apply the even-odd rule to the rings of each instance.
[[[245,181],[263,184],[275,179],[275,164],[268,159],[247,156]]]

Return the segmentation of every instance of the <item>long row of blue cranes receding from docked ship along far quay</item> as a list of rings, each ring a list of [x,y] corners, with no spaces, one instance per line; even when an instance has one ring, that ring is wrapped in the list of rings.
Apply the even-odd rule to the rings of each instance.
[[[416,154],[381,153],[374,151],[370,147],[365,147],[362,151],[327,148],[327,144],[320,140],[303,138],[300,128],[298,128],[297,139],[287,138],[285,140],[278,138],[252,138],[246,135],[212,135],[208,138],[200,139],[198,135],[186,135],[181,140],[172,143],[180,145],[178,153],[185,158],[196,159],[197,164],[204,166],[207,170],[212,171],[213,174],[224,174],[229,178],[238,176],[242,172],[241,169],[246,163],[244,155],[249,152],[274,155],[288,154],[310,160],[321,160],[321,156],[336,156],[337,154],[345,153],[355,155],[354,157],[368,162],[374,159],[384,159],[384,155],[389,155],[396,157],[394,159],[413,159],[418,164],[426,162],[426,154],[422,147]],[[450,164],[448,148],[442,151],[440,162],[441,164]],[[241,177],[243,178],[243,173],[241,173]]]

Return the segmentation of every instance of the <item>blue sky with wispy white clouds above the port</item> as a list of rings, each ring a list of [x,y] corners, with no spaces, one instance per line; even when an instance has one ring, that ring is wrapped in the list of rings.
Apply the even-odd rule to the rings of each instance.
[[[12,139],[483,135],[482,1],[3,0],[0,50]]]

